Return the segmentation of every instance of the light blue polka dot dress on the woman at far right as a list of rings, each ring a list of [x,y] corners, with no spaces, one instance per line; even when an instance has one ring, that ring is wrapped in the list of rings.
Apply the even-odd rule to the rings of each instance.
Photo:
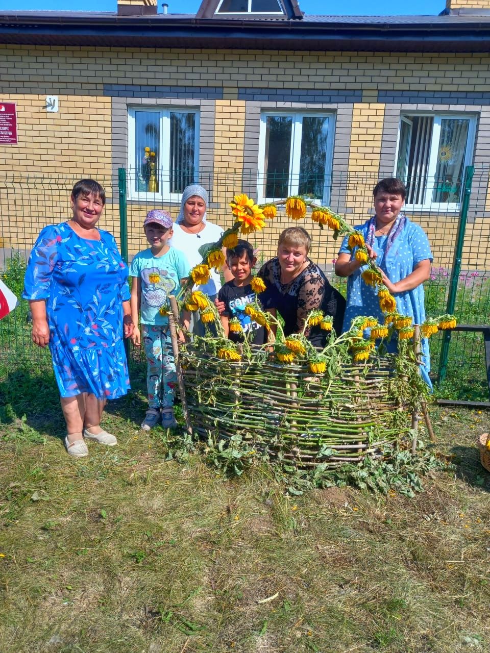
[[[419,227],[419,225],[410,222],[406,216],[402,215],[402,217],[404,217],[405,220],[404,227],[395,240],[393,240],[393,244],[389,247],[387,254],[385,252],[387,250],[388,236],[376,236],[374,242],[372,242],[372,249],[374,249],[378,255],[376,264],[378,264],[378,266],[380,266],[380,268],[385,272],[391,283],[397,283],[400,279],[404,279],[408,276],[414,271],[414,267],[417,263],[425,261],[426,259],[429,259],[431,262],[433,260],[431,246],[429,245],[429,240],[423,229]],[[361,234],[363,234],[366,241],[368,241],[369,223],[370,220],[360,227],[355,227],[357,231],[360,231]],[[393,227],[393,229],[395,229],[395,227]],[[344,238],[344,242],[342,242],[342,246],[338,251],[339,254],[350,254],[347,242],[348,236]],[[354,254],[355,249],[352,252],[352,256]],[[361,278],[361,272],[366,269],[367,266],[363,265],[348,278],[347,308],[344,316],[343,331],[347,331],[350,328],[351,321],[354,317],[357,317],[357,315],[372,315],[380,320],[381,323],[384,321],[384,315],[380,309],[377,291],[375,291],[371,286],[368,286]],[[422,284],[412,290],[405,291],[404,293],[397,293],[395,295],[397,311],[400,315],[409,315],[414,320],[414,324],[418,325],[423,323],[425,320],[424,300],[425,295]],[[395,340],[392,340],[391,343],[389,343],[388,351],[395,350],[396,342]],[[432,389],[431,379],[429,379],[431,363],[429,358],[429,341],[427,338],[421,339],[421,354],[423,365],[420,368],[420,373],[425,383],[427,383],[429,388]]]

